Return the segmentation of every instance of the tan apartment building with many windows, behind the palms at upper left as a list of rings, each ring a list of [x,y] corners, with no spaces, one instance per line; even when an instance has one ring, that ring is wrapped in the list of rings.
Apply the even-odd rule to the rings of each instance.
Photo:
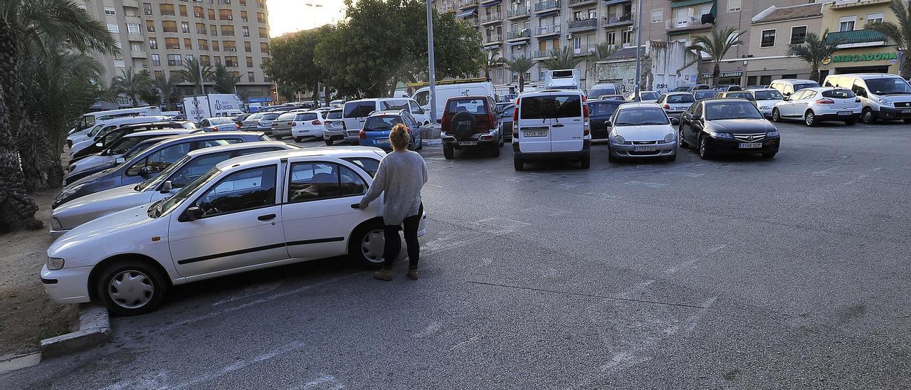
[[[240,77],[241,96],[262,101],[274,95],[274,83],[261,68],[270,59],[265,0],[84,0],[82,5],[107,25],[121,49],[118,56],[97,57],[106,83],[128,69],[179,77],[184,60],[199,58]],[[189,83],[180,89],[194,94]],[[120,103],[130,104],[126,97]]]

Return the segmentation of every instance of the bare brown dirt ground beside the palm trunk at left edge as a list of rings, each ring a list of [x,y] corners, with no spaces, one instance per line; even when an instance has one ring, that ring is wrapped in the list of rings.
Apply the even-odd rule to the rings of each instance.
[[[0,235],[0,356],[35,352],[41,339],[66,334],[78,322],[78,306],[52,302],[38,280],[54,241],[47,229],[57,192],[33,194],[44,229]]]

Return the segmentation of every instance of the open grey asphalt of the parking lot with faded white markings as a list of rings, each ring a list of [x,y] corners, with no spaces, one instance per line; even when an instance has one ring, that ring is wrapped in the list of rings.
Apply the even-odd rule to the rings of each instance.
[[[421,279],[330,259],[180,286],[5,388],[911,386],[911,126],[776,124],[774,159],[421,151]],[[303,142],[305,147],[324,146]]]

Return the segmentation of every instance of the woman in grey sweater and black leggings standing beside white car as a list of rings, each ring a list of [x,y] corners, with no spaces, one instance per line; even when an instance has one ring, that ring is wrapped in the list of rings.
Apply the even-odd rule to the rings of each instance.
[[[361,209],[385,192],[383,224],[385,225],[384,253],[402,250],[399,226],[404,225],[404,242],[408,247],[408,277],[417,280],[417,261],[421,249],[417,242],[417,227],[421,223],[424,207],[421,204],[421,187],[427,182],[427,164],[420,154],[408,150],[408,128],[403,123],[395,125],[389,133],[393,152],[380,161],[374,184],[361,200]],[[393,280],[394,257],[384,255],[383,268],[374,277],[383,281]]]

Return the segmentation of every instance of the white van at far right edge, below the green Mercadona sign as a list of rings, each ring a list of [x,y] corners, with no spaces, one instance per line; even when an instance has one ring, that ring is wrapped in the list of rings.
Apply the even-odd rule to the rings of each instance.
[[[861,120],[900,120],[911,123],[911,85],[896,75],[869,73],[825,77],[824,87],[851,89],[860,99]]]

